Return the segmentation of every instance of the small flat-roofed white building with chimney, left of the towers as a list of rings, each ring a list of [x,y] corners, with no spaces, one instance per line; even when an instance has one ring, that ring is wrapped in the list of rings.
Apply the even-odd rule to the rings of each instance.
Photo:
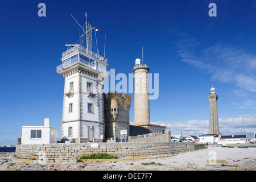
[[[21,144],[57,143],[57,130],[44,118],[44,126],[22,126]]]

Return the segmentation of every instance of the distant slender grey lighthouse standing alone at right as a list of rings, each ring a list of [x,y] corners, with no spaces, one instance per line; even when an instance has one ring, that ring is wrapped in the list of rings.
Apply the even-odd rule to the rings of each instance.
[[[208,134],[220,134],[218,129],[218,109],[217,100],[218,96],[214,88],[210,89],[209,100],[209,131]]]

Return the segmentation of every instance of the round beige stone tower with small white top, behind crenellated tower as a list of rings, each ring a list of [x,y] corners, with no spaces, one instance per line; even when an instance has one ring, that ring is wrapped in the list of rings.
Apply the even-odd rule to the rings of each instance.
[[[136,60],[134,66],[134,125],[150,124],[150,107],[148,100],[148,72],[146,64]]]

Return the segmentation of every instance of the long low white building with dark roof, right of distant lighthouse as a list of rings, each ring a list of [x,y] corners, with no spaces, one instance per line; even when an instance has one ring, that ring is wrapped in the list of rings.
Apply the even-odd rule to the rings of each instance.
[[[238,143],[248,143],[247,134],[246,135],[224,135],[220,137],[218,144],[238,144]]]

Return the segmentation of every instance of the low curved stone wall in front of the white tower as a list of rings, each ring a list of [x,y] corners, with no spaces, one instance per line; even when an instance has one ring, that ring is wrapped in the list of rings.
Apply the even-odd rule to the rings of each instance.
[[[141,143],[98,143],[91,147],[90,143],[54,143],[17,145],[17,158],[38,160],[76,159],[82,155],[108,153],[121,158],[139,156],[171,155],[179,152],[195,151],[205,144],[174,143],[174,142],[141,142]]]

